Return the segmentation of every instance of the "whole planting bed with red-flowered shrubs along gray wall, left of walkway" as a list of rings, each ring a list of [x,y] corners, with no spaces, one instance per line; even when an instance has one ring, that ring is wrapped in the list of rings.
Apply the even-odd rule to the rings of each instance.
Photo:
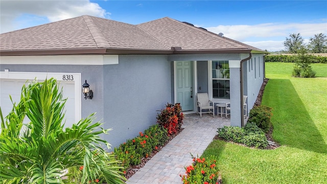
[[[144,132],[139,132],[134,139],[114,148],[116,158],[122,161],[122,172],[127,179],[182,130],[183,113],[180,104],[167,104],[158,114],[157,123]]]

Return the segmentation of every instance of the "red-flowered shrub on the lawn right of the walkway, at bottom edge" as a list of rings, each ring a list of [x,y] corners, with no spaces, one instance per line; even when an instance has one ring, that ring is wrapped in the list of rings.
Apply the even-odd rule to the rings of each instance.
[[[193,163],[185,167],[185,175],[180,175],[182,182],[186,183],[221,183],[216,160],[210,158],[196,158],[192,155]]]

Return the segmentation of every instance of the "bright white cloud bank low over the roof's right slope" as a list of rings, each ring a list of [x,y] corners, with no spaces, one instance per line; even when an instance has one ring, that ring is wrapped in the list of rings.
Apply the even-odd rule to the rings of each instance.
[[[223,33],[224,36],[235,39],[253,47],[267,49],[268,51],[280,51],[285,49],[283,42],[290,33],[300,33],[307,40],[315,34],[327,34],[327,23],[317,24],[277,24],[266,23],[258,25],[233,25],[206,28],[214,33]]]

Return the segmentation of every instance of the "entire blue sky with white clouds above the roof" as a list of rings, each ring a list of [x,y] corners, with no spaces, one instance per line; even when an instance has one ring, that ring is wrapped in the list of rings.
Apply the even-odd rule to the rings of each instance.
[[[308,41],[327,35],[327,1],[0,1],[1,33],[80,15],[141,24],[162,17],[268,51],[283,50],[290,33]]]

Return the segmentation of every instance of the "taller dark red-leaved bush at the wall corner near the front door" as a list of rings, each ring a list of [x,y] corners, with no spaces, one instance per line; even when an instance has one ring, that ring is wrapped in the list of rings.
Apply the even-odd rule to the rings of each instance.
[[[179,103],[175,105],[167,104],[166,108],[161,110],[157,116],[157,123],[166,128],[168,135],[172,135],[180,131],[183,124],[183,113]]]

